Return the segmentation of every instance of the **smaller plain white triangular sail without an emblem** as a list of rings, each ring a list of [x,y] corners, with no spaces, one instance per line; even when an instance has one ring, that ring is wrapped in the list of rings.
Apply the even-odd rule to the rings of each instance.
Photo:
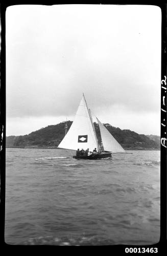
[[[125,152],[124,148],[114,139],[114,137],[110,134],[106,127],[99,121],[98,118],[97,120],[99,123],[104,150],[113,153]]]

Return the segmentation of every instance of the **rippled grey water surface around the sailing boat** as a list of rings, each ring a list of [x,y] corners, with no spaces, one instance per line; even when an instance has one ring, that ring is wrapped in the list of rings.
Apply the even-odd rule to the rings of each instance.
[[[7,148],[8,244],[144,245],[160,237],[160,152],[77,160]]]

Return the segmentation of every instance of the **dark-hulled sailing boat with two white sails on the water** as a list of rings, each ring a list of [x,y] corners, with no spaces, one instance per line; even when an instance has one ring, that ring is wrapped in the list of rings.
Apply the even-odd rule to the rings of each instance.
[[[114,139],[98,118],[97,121],[101,133],[101,143],[98,141],[91,112],[90,109],[88,109],[83,94],[74,121],[58,147],[68,150],[77,150],[78,148],[87,150],[87,148],[89,148],[91,151],[94,148],[97,148],[98,154],[91,154],[90,156],[73,156],[73,158],[82,159],[107,158],[111,157],[112,153],[125,152],[124,148]]]

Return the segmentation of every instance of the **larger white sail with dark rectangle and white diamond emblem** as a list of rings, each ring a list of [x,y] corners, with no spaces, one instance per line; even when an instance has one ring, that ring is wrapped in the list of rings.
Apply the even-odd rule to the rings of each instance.
[[[73,123],[58,147],[68,150],[77,150],[78,148],[86,150],[89,148],[89,151],[93,151],[95,147],[98,148],[84,96]]]

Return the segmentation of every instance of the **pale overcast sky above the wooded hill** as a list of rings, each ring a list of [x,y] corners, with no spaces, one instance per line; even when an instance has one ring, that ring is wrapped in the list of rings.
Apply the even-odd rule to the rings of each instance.
[[[6,12],[7,136],[73,120],[160,135],[161,10],[18,5]]]

